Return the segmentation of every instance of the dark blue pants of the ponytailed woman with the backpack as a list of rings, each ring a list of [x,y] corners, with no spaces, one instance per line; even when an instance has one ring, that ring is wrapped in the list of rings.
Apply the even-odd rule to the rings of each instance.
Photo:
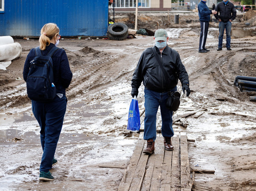
[[[49,172],[52,168],[66,108],[67,98],[65,95],[62,98],[56,96],[53,102],[48,103],[32,101],[33,114],[41,128],[40,139],[43,156],[40,172]]]

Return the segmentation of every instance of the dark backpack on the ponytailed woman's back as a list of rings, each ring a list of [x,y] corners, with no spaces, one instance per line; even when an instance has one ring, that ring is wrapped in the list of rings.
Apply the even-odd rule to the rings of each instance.
[[[39,47],[35,48],[34,60],[30,62],[27,75],[27,96],[34,101],[51,101],[56,96],[52,56],[58,50],[53,47],[42,56]]]

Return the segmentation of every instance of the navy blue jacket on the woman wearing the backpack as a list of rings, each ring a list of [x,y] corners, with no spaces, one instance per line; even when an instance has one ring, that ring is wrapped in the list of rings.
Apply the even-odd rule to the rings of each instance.
[[[54,44],[50,44],[46,46],[46,49],[42,52],[42,55],[47,55],[48,51],[54,47]],[[23,69],[23,78],[27,81],[27,75],[30,67],[30,61],[32,61],[35,57],[35,49],[31,49],[27,55],[27,59],[24,64]],[[54,65],[54,85],[56,86],[56,93],[66,95],[66,88],[68,88],[71,80],[72,80],[72,72],[69,67],[67,54],[64,49],[59,48],[54,55],[52,56],[53,65]]]

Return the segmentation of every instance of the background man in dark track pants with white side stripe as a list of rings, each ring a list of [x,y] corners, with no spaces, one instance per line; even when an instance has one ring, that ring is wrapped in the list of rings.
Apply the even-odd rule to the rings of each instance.
[[[198,15],[201,25],[201,32],[200,32],[200,42],[199,42],[199,51],[201,53],[209,52],[205,48],[206,38],[208,34],[208,28],[209,28],[209,21],[211,19],[210,14],[216,14],[217,12],[215,10],[209,10],[208,6],[206,5],[207,0],[201,0],[201,2],[198,4]]]

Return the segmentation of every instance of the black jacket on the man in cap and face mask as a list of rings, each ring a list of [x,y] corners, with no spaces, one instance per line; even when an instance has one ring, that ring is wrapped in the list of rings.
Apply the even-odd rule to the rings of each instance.
[[[157,55],[154,55],[153,48]],[[155,56],[162,59],[162,65],[168,74],[168,80],[165,79]],[[143,85],[148,89],[156,92],[166,92],[175,88],[178,79],[182,84],[189,84],[189,75],[182,64],[179,53],[166,46],[162,51],[161,58],[159,49],[154,46],[143,51],[133,74],[132,88],[138,89],[143,81]]]

